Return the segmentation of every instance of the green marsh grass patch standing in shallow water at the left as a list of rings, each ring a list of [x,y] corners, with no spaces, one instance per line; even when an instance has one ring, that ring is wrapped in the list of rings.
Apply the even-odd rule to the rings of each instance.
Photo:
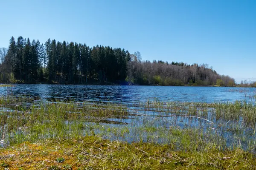
[[[66,102],[20,106],[19,110],[1,111],[0,135],[10,144],[44,138],[69,139],[83,134],[85,122],[103,122],[112,116],[125,119],[127,114],[124,106],[112,104],[90,106]]]

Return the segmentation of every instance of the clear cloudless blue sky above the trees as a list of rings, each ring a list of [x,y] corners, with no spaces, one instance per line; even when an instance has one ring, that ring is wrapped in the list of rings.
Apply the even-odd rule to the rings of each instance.
[[[207,63],[256,81],[256,0],[1,0],[0,47],[18,36],[110,45],[143,60]]]

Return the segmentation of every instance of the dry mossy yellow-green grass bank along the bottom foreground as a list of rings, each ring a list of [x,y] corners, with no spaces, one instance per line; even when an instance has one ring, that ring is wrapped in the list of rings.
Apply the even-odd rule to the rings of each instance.
[[[14,170],[93,169],[255,169],[253,154],[237,148],[220,151],[175,150],[173,144],[109,141],[97,136],[25,142],[0,149],[0,168]]]

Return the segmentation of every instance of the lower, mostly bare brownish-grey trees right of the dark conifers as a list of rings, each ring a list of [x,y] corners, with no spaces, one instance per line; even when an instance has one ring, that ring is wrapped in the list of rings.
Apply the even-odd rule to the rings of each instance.
[[[132,56],[133,54],[131,54]],[[133,57],[133,56],[132,56]],[[235,80],[229,76],[219,75],[207,64],[189,65],[183,62],[131,61],[132,82],[141,85],[218,85],[234,86]]]

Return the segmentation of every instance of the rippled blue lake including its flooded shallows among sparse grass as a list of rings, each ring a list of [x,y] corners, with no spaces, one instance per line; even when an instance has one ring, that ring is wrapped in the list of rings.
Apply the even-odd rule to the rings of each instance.
[[[1,87],[0,94],[26,96],[35,100],[32,103],[25,103],[25,107],[22,109],[19,107],[24,105],[24,102],[3,105],[0,108],[0,116],[2,115],[4,119],[6,119],[5,115],[12,118],[20,114],[22,117],[30,113],[33,106],[38,107],[40,101],[45,104],[55,100],[71,99],[75,101],[77,105],[74,107],[78,107],[78,110],[63,109],[63,111],[77,114],[90,111],[93,114],[88,114],[78,120],[82,127],[82,132],[79,135],[99,134],[103,138],[111,140],[168,143],[183,139],[183,137],[177,136],[176,138],[174,135],[178,133],[177,130],[180,130],[178,134],[195,132],[194,135],[197,136],[203,133],[205,142],[215,140],[219,145],[229,147],[234,144],[241,145],[244,150],[255,147],[254,143],[256,143],[256,109],[254,105],[256,88],[17,84],[14,87]],[[244,107],[242,106],[244,104],[240,105],[240,103],[233,105],[237,100],[247,101],[249,104]],[[227,101],[230,103],[222,105],[222,102]],[[212,105],[213,102],[216,102],[216,105]],[[86,105],[98,110],[89,109],[83,112],[82,109],[87,108]],[[39,105],[39,107],[41,106]],[[105,111],[104,109],[110,111],[111,114],[111,109],[116,109],[118,114],[119,111],[123,111],[122,108],[118,108],[119,106],[126,108],[125,111],[128,112],[126,116],[109,115],[104,117],[99,115],[100,112]],[[240,109],[241,107],[243,109]],[[28,110],[26,111],[26,109]],[[44,108],[44,112],[46,110],[47,108]],[[61,110],[62,108],[58,111]],[[37,110],[35,109],[33,112],[37,113]],[[51,116],[55,114],[52,111],[47,113]],[[24,118],[22,121],[29,121],[26,119]],[[56,118],[47,119],[46,116],[41,119],[45,119],[41,123],[47,124],[49,121],[54,123]],[[23,125],[22,121],[21,125]],[[73,127],[74,121],[65,119],[61,123],[64,124],[63,127],[66,125]],[[4,136],[8,136],[7,124],[0,127],[0,134],[6,133]],[[74,125],[77,125],[77,122]],[[22,133],[29,136],[30,131],[26,128],[14,129],[15,134]],[[51,130],[55,132],[54,128]],[[48,134],[48,131],[51,130],[40,135],[43,138],[49,137],[52,133]],[[13,133],[9,134],[9,136],[12,135]],[[57,133],[54,136],[56,135]],[[256,153],[256,150],[254,152]]]

